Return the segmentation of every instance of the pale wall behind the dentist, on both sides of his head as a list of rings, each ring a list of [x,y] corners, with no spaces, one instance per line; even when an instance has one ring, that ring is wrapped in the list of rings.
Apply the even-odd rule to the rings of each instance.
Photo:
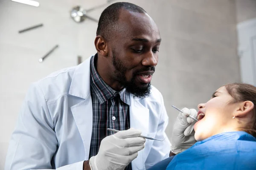
[[[0,169],[20,105],[31,82],[52,71],[76,65],[77,55],[94,54],[97,24],[74,23],[72,6],[91,8],[105,0],[38,0],[38,8],[0,0]],[[177,112],[206,102],[220,85],[240,80],[236,54],[234,0],[128,0],[142,6],[155,20],[163,39],[152,83],[163,94],[169,114],[170,137]],[[93,11],[99,18],[104,8]],[[38,23],[23,34],[17,31]],[[59,48],[43,63],[38,59],[55,44]]]

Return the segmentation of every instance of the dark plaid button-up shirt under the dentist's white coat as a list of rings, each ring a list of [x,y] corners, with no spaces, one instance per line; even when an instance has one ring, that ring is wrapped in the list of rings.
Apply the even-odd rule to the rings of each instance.
[[[113,134],[107,128],[127,130],[130,128],[129,92],[114,91],[99,76],[96,70],[98,55],[91,58],[90,66],[90,93],[93,102],[93,129],[90,143],[90,154],[95,156],[103,138]]]

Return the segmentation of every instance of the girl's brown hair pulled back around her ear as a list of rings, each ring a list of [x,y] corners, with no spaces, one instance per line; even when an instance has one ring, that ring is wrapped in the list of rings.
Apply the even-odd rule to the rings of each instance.
[[[247,127],[242,127],[241,130],[256,137],[256,87],[246,83],[231,83],[224,85],[224,87],[234,98],[234,102],[243,102],[247,100],[253,102],[254,108],[251,124],[247,125]]]

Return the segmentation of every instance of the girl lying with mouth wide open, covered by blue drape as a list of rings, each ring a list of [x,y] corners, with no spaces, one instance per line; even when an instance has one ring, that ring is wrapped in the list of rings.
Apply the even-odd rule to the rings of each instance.
[[[198,142],[150,170],[256,170],[256,87],[224,85],[198,110]]]

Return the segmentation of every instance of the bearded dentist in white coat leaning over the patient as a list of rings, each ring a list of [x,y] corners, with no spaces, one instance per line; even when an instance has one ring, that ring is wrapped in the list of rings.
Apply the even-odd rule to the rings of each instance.
[[[139,137],[166,137],[163,97],[150,84],[160,43],[157,25],[143,8],[108,6],[99,18],[97,53],[29,88],[5,170],[144,170],[169,157],[168,138]],[[174,153],[187,145],[179,132]]]

